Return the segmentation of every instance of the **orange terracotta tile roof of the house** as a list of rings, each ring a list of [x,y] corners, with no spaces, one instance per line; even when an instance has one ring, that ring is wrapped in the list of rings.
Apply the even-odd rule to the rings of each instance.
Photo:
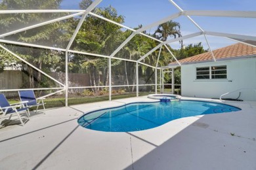
[[[237,43],[237,44],[232,44],[230,46],[226,46],[224,48],[213,50],[213,55],[215,56],[216,60],[243,58],[243,57],[248,57],[253,55],[256,57],[256,47],[249,46],[243,43]],[[213,61],[211,52],[205,52],[203,54],[198,54],[190,58],[179,60],[181,64],[197,63],[197,62],[203,62],[203,61]],[[177,62],[175,61],[173,63],[170,63],[169,65],[177,65]]]

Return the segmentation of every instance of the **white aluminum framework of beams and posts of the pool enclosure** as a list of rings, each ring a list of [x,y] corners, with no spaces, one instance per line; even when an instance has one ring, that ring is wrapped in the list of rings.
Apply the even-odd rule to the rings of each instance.
[[[155,86],[156,87],[156,93],[157,93],[157,86],[158,86],[158,82],[157,82],[157,76],[158,76],[158,69],[160,70],[160,86],[163,86],[163,67],[158,67],[158,61],[161,55],[161,48],[162,46],[165,46],[165,48],[167,48],[167,50],[169,51],[169,53],[171,54],[171,56],[175,59],[175,61],[177,61],[177,63],[179,64],[179,66],[181,66],[181,63],[179,63],[179,61],[177,60],[177,58],[173,55],[173,53],[171,52],[171,50],[169,50],[167,44],[171,43],[171,42],[177,42],[177,41],[181,41],[183,39],[189,39],[192,37],[197,37],[200,35],[203,35],[203,37],[205,38],[205,41],[207,42],[207,45],[209,47],[209,50],[211,52],[211,56],[213,57],[213,61],[216,61],[215,56],[213,55],[213,52],[211,50],[211,46],[207,40],[206,35],[211,35],[211,36],[215,36],[215,37],[225,37],[227,39],[230,39],[232,41],[236,41],[236,42],[242,42],[244,44],[248,44],[246,42],[243,42],[244,40],[251,40],[251,41],[256,41],[256,37],[255,36],[248,36],[248,35],[237,35],[237,34],[230,34],[230,33],[219,33],[219,32],[211,32],[211,31],[205,31],[202,29],[202,27],[200,27],[200,25],[198,25],[194,20],[192,20],[192,18],[190,18],[190,16],[217,16],[217,17],[240,17],[240,18],[256,18],[256,11],[226,11],[226,10],[182,10],[181,7],[179,7],[173,0],[169,0],[169,2],[176,7],[180,12],[177,12],[175,14],[172,14],[171,16],[167,16],[161,20],[159,20],[158,22],[154,22],[152,24],[146,25],[140,29],[131,29],[130,27],[127,27],[123,24],[119,24],[117,22],[114,22],[112,20],[109,20],[108,18],[104,18],[102,16],[99,16],[97,14],[94,14],[93,12],[91,12],[93,9],[95,9],[95,7],[101,2],[102,0],[95,0],[86,10],[0,10],[0,14],[17,14],[17,13],[53,13],[53,12],[63,12],[63,13],[74,13],[74,14],[69,14],[67,16],[63,16],[60,18],[55,18],[53,20],[49,20],[46,22],[42,22],[40,24],[35,24],[35,25],[30,25],[28,27],[24,27],[22,29],[16,29],[14,31],[11,31],[9,33],[3,33],[2,35],[0,35],[0,42],[2,43],[7,43],[7,44],[18,44],[20,46],[32,46],[35,48],[43,48],[43,49],[51,49],[51,50],[58,50],[58,51],[62,51],[65,52],[66,54],[66,64],[65,64],[65,68],[66,68],[66,81],[65,84],[62,84],[61,82],[58,82],[58,80],[55,80],[53,77],[47,75],[46,73],[44,73],[43,71],[41,71],[40,69],[37,69],[36,67],[34,67],[32,64],[28,63],[28,61],[20,58],[20,56],[14,54],[13,52],[11,52],[11,50],[5,48],[5,46],[2,46],[0,44],[0,47],[3,48],[4,50],[6,50],[7,52],[9,52],[10,54],[12,54],[13,56],[15,56],[16,58],[20,59],[21,61],[23,61],[24,63],[27,63],[28,65],[30,65],[30,67],[33,67],[33,69],[39,71],[40,73],[42,73],[43,75],[47,76],[48,78],[51,78],[52,80],[54,80],[55,82],[57,82],[60,86],[62,86],[62,88],[37,88],[37,89],[31,89],[31,90],[58,90],[57,92],[54,93],[58,93],[58,92],[62,92],[62,91],[66,91],[66,106],[68,106],[68,89],[73,89],[73,88],[94,88],[92,86],[84,86],[84,87],[68,87],[68,54],[69,53],[75,53],[75,54],[85,54],[85,55],[89,55],[89,56],[95,56],[95,57],[102,57],[102,58],[108,58],[109,62],[108,62],[108,67],[109,67],[109,84],[108,86],[100,86],[100,87],[108,87],[109,88],[109,100],[112,100],[112,94],[111,94],[111,90],[112,87],[123,87],[123,86],[136,86],[137,87],[137,96],[139,96],[139,86]],[[79,29],[81,28],[81,25],[83,24],[86,16],[90,14],[92,16],[95,16],[97,18],[100,18],[102,20],[105,20],[106,22],[111,22],[112,24],[116,24],[119,27],[123,27],[125,29],[128,29],[130,31],[133,31],[133,33],[131,33],[131,35],[125,40],[123,41],[122,44],[120,44],[116,50],[114,50],[114,52],[112,52],[112,54],[110,56],[105,56],[105,55],[100,55],[100,54],[91,54],[88,52],[79,52],[79,51],[75,51],[75,50],[70,50],[70,47],[72,46],[72,43],[75,40],[75,37],[79,31]],[[51,24],[53,22],[58,22],[61,20],[66,20],[68,18],[74,18],[75,16],[81,16],[81,19],[79,21],[79,24],[77,24],[77,27],[74,31],[74,34],[72,35],[72,38],[70,39],[68,46],[66,46],[66,49],[63,48],[54,48],[52,46],[43,46],[43,45],[38,45],[38,44],[30,44],[30,43],[25,43],[25,42],[16,42],[16,41],[7,41],[5,39],[1,39],[3,37],[6,37],[8,35],[12,35],[14,33],[19,33],[21,31],[27,31],[29,29],[33,29],[35,27],[40,27],[42,25],[47,25],[47,24]],[[186,16],[188,18],[188,20],[190,20],[190,22],[192,22],[192,24],[194,24],[196,27],[198,27],[198,29],[200,30],[200,32],[198,33],[192,33],[190,35],[185,35],[183,37],[178,37],[176,39],[169,39],[165,42],[160,41],[154,37],[150,37],[149,35],[146,35],[144,33],[142,33],[143,31],[146,31],[152,27],[155,27],[157,25],[163,24],[165,22],[168,22],[169,20],[173,20],[175,18],[179,18],[179,16]],[[119,50],[121,50],[121,48],[123,48],[123,46],[125,46],[125,44],[127,44],[129,41],[131,41],[131,39],[133,39],[133,37],[137,34],[140,34],[142,36],[148,37],[150,39],[153,39],[154,41],[158,41],[160,42],[160,44],[158,44],[158,46],[156,46],[155,48],[152,48],[152,50],[150,50],[150,52],[148,52],[147,54],[145,54],[144,56],[142,56],[140,59],[138,60],[133,60],[133,59],[123,59],[123,58],[116,58],[115,55],[117,54],[117,52],[119,52]],[[253,47],[256,47],[255,45],[249,44]],[[146,63],[143,63],[142,60],[146,57],[148,57],[150,54],[152,54],[152,52],[154,52],[155,50],[158,50],[158,48],[160,48],[160,52],[158,54],[158,59],[157,59],[157,63],[155,66],[152,65],[148,65]],[[112,59],[120,59],[123,61],[131,61],[131,62],[135,62],[136,63],[136,81],[137,84],[136,85],[119,85],[119,86],[114,86],[111,84],[111,61]],[[148,67],[152,67],[153,69],[155,69],[155,84],[139,84],[139,64],[142,65],[146,65]],[[171,68],[172,72],[174,73],[174,68]],[[172,74],[174,75],[174,74]],[[172,85],[174,84],[174,78],[172,78],[173,82]],[[99,87],[99,86],[96,86]],[[173,87],[172,87],[173,88]],[[18,91],[18,89],[15,90],[0,90],[0,92],[11,92],[11,91]],[[53,95],[54,93],[51,93],[49,95]],[[46,95],[45,97],[49,96]]]

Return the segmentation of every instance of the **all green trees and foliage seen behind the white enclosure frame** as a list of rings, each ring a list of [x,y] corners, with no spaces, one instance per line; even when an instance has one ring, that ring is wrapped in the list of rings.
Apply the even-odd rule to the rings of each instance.
[[[0,9],[58,9],[61,2],[62,0],[3,0],[0,1]],[[81,3],[79,3],[79,6],[81,9],[87,9],[92,2],[93,1],[91,0],[82,0]],[[125,22],[124,16],[119,15],[116,9],[111,6],[96,8],[93,12],[120,24]],[[45,20],[53,20],[53,18],[59,18],[61,16],[64,16],[61,12],[54,14],[39,13],[3,15],[3,18],[0,20],[0,29],[5,33],[10,31],[10,28],[18,29],[18,27],[28,27],[28,25],[45,22]],[[28,31],[22,31],[11,35],[11,38],[20,42],[47,44],[48,46],[54,47],[64,46],[64,48],[66,48],[66,45],[68,44],[70,37],[72,37],[80,19],[81,18],[79,17],[70,18],[68,20],[54,22],[53,24],[35,27]],[[139,27],[135,29],[139,29],[141,27],[142,25],[139,25]],[[159,25],[153,35],[146,33],[146,31],[143,31],[143,33],[154,36],[161,41],[166,41],[169,37],[181,37],[180,29],[181,25],[178,22],[169,21]],[[122,27],[119,27],[116,24],[106,22],[105,20],[93,15],[88,15],[81,25],[81,29],[79,29],[71,49],[110,56],[130,35],[131,31],[129,30],[125,31]],[[157,41],[137,34],[114,56],[114,58],[137,60],[147,54],[158,44],[159,42]],[[25,48],[18,45],[8,45],[8,48],[45,73],[49,73],[50,71],[65,71],[65,54],[63,52],[56,50],[43,50],[39,48]],[[200,54],[205,50],[203,50],[201,43],[199,43],[194,44],[194,46],[190,44],[186,46],[185,49],[172,51],[175,56],[179,56],[179,59],[182,59]],[[158,61],[159,52],[159,49],[152,52],[152,54],[142,59],[142,62],[155,66]],[[111,80],[108,80],[108,58],[72,53],[68,55],[69,73],[88,73],[91,86],[102,86],[110,83],[109,81]],[[168,50],[163,47],[161,49],[160,60],[158,61],[157,66],[166,66],[171,62],[171,58],[172,57]],[[0,59],[0,71],[3,69],[3,65],[5,63],[15,61],[22,65],[22,71],[30,77],[30,83],[26,84],[27,88],[56,86],[53,80],[45,78],[41,73],[38,73],[25,63],[18,61],[4,50],[0,50]],[[112,73],[125,73],[125,84],[135,84],[135,63],[112,58],[111,66]],[[175,71],[175,83],[177,84],[180,84],[180,75],[181,73],[179,70]],[[146,65],[141,65],[139,67],[139,77],[143,78],[145,83],[154,82],[154,70]],[[165,81],[171,81],[169,76],[165,75]],[[133,86],[133,90],[134,89],[135,86]],[[92,91],[85,90],[82,95],[95,95],[95,93],[105,95],[108,93],[108,90],[105,88],[101,90],[100,88],[93,88]],[[112,93],[123,93],[123,91],[114,90]]]

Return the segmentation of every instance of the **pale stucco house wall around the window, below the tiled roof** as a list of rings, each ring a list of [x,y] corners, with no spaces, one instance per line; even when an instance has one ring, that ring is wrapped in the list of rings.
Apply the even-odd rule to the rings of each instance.
[[[196,67],[226,65],[226,80],[196,80]],[[240,88],[256,89],[256,58],[235,59],[181,66],[181,95],[188,97],[219,98],[220,95]],[[224,98],[237,98],[239,92]],[[242,90],[240,98],[256,101],[253,90]]]

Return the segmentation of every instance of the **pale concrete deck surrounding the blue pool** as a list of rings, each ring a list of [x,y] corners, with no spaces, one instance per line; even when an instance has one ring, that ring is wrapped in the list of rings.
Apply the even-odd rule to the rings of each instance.
[[[1,128],[0,169],[256,169],[255,101],[225,102],[240,107],[238,112],[181,118],[129,133],[77,124],[83,112],[135,101],[156,100],[133,97],[47,109],[25,126]]]

